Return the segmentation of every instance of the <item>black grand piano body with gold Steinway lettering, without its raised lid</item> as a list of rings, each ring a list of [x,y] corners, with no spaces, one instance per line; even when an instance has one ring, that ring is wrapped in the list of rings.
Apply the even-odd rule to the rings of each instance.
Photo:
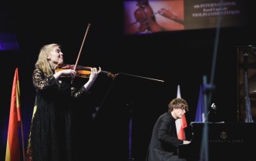
[[[207,132],[204,130],[205,127]],[[180,158],[185,158],[188,161],[256,160],[254,149],[256,123],[254,122],[192,122],[189,128],[193,132],[192,141],[187,145],[179,146],[178,155]],[[207,140],[202,140],[204,135],[207,135]],[[207,146],[202,146],[202,142],[207,143]],[[205,152],[205,149],[207,149],[207,157],[204,157],[205,153],[200,153],[201,150]]]

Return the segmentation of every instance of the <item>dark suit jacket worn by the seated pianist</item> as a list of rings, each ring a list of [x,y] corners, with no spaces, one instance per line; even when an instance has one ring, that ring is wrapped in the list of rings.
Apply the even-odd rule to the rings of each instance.
[[[147,153],[147,161],[172,161],[177,159],[177,147],[183,140],[177,139],[175,119],[170,113],[161,115],[155,125]]]

